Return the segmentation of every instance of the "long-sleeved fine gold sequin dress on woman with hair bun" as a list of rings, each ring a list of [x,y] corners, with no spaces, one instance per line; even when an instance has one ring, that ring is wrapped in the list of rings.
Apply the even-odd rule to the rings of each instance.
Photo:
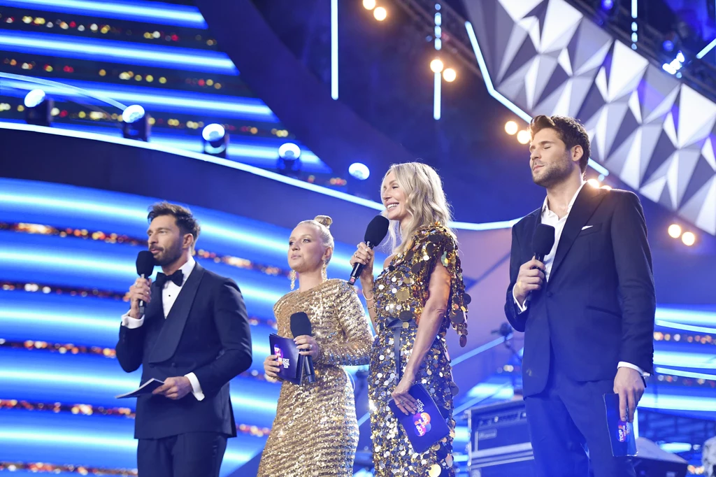
[[[281,384],[258,477],[350,477],[358,445],[353,387],[343,366],[367,365],[373,340],[355,289],[327,280],[291,291],[274,305],[278,334],[291,334],[291,314],[306,312],[319,356],[316,381]]]

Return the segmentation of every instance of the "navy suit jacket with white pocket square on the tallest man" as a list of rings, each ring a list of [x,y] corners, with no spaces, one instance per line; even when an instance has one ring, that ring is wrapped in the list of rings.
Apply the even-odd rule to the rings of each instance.
[[[636,194],[584,186],[571,208],[546,283],[520,313],[512,289],[534,255],[539,208],[512,228],[505,314],[525,332],[525,395],[541,392],[556,364],[576,381],[611,380],[620,361],[652,372],[654,277]],[[584,226],[591,226],[583,230]]]

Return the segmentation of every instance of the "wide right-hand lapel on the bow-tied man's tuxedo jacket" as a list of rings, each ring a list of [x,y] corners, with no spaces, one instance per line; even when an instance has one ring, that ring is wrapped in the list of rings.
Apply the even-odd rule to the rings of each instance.
[[[154,344],[149,362],[163,362],[174,355],[203,276],[204,269],[199,264],[196,264],[172,305],[162,331]]]

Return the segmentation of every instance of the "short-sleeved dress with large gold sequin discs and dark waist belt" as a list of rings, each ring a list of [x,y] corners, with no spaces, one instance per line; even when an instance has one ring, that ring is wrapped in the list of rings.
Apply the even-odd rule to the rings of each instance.
[[[416,453],[388,407],[388,401],[392,399],[390,393],[395,390],[410,357],[417,321],[420,321],[427,302],[430,274],[438,262],[450,273],[449,312],[425,355],[416,382],[422,382],[432,395],[450,427],[450,436],[427,452]],[[465,312],[470,301],[465,294],[458,247],[453,236],[439,223],[418,229],[409,248],[395,256],[390,266],[378,276],[373,291],[377,336],[371,350],[368,392],[375,409],[371,415],[375,475],[453,477],[453,394],[457,392],[457,386],[450,370],[445,332],[452,322],[460,334],[460,343],[464,344],[468,333]],[[398,360],[394,358],[396,353]]]

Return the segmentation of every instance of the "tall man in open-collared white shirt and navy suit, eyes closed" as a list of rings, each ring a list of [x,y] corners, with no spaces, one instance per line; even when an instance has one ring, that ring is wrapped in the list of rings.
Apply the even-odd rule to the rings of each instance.
[[[639,198],[584,183],[589,136],[571,117],[531,123],[532,178],[541,208],[512,229],[505,314],[525,333],[523,392],[535,463],[543,477],[634,476],[611,453],[603,395],[619,394],[634,419],[652,372],[654,279]],[[536,226],[555,227],[544,261]],[[528,297],[531,297],[528,300]],[[585,452],[589,449],[589,458]]]

